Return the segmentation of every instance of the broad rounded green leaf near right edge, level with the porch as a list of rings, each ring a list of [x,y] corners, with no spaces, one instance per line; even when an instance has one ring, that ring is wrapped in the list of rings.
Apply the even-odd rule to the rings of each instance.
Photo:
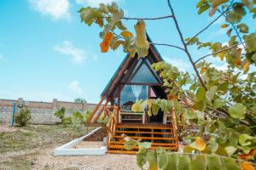
[[[233,118],[244,119],[247,112],[247,107],[238,103],[231,105],[229,108],[230,116]]]

